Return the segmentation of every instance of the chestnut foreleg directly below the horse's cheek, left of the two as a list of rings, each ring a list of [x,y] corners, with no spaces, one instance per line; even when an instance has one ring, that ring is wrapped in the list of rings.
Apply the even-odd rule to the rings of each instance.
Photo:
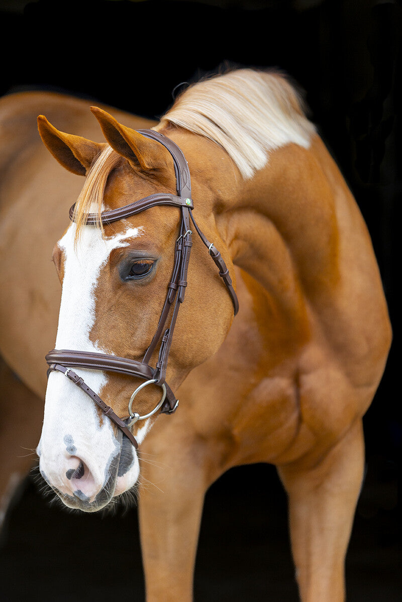
[[[140,537],[147,602],[190,602],[203,512],[206,463],[188,438],[166,439],[145,455],[140,489]],[[147,445],[146,451],[155,450]]]

